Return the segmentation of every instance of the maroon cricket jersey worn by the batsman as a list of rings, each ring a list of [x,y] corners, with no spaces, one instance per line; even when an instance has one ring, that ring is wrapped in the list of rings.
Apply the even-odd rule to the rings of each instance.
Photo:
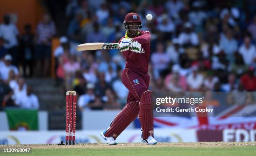
[[[150,56],[150,32],[149,31],[139,31],[140,34],[133,38],[133,41],[141,43],[141,51],[144,53],[134,53],[130,49],[128,51],[123,51],[125,56],[125,67],[129,69],[134,69],[136,71],[147,73],[148,72],[148,61]],[[123,36],[121,40],[125,38]]]

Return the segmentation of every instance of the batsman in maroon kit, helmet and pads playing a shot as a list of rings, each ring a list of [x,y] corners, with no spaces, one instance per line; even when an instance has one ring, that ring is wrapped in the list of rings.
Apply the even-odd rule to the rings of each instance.
[[[126,33],[119,41],[119,49],[126,61],[122,82],[129,90],[127,104],[100,135],[108,144],[116,145],[115,139],[138,117],[142,129],[141,140],[154,145],[157,142],[154,139],[153,98],[148,90],[150,32],[139,31],[142,23],[137,13],[128,13],[123,25]]]

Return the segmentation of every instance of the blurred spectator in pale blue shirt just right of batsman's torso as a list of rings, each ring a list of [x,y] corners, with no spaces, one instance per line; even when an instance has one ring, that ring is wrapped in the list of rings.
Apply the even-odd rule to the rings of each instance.
[[[169,55],[164,51],[163,43],[157,43],[156,52],[152,54],[151,61],[153,64],[154,77],[158,78],[161,71],[167,68],[170,61]]]

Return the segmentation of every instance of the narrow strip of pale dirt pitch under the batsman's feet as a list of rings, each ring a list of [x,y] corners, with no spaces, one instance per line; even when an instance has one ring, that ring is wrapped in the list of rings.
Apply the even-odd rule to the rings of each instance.
[[[32,148],[130,148],[130,147],[227,147],[227,146],[256,146],[256,142],[200,142],[200,143],[157,143],[149,146],[145,143],[77,143],[72,146],[57,144],[28,144],[28,145],[0,145],[0,147],[32,147]]]

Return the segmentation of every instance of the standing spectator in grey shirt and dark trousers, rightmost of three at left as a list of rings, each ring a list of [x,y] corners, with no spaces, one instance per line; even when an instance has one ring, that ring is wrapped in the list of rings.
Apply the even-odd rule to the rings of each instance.
[[[48,76],[51,58],[51,38],[55,35],[55,24],[49,14],[44,14],[43,20],[36,27],[35,61],[36,76]],[[42,64],[44,66],[42,67]],[[43,74],[43,75],[41,75]]]

